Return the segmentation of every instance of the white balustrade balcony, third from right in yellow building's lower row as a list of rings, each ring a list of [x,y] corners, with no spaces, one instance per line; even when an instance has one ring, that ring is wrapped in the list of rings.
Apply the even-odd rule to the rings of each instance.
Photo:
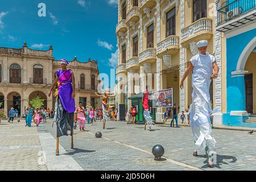
[[[139,53],[139,64],[155,63],[156,48],[147,48],[145,51]]]

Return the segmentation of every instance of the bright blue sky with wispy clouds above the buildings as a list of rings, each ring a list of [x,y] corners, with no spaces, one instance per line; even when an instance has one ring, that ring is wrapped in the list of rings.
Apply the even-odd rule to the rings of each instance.
[[[98,61],[100,73],[110,76],[117,64],[118,0],[9,0],[0,6],[0,47],[32,49],[53,46],[56,60]],[[46,17],[39,17],[39,3]],[[113,85],[112,85],[113,86]]]

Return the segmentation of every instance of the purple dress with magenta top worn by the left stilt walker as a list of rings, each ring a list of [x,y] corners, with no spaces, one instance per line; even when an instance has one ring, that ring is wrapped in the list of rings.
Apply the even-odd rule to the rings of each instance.
[[[59,77],[59,98],[64,107],[64,110],[67,113],[74,113],[76,110],[75,106],[75,99],[72,98],[72,70],[67,69],[65,71],[58,70],[56,72],[57,76]]]

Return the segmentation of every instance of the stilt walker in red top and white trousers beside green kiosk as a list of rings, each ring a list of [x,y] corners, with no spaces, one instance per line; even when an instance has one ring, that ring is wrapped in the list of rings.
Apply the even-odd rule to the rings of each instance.
[[[144,108],[143,116],[144,116],[144,119],[146,119],[146,122],[144,125],[144,130],[146,130],[146,125],[147,125],[151,131],[152,125],[155,125],[155,124],[153,122],[153,119],[150,116],[150,111],[149,111],[149,107],[148,107],[149,93],[147,90],[148,90],[148,85],[146,86],[146,91],[143,94],[143,98],[142,98],[142,106]]]

